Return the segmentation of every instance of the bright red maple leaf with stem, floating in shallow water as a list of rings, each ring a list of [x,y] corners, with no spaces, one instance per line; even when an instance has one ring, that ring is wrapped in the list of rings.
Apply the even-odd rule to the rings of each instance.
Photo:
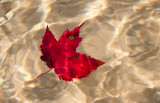
[[[79,31],[82,25],[72,31],[67,29],[58,41],[47,26],[42,45],[40,45],[43,54],[41,60],[47,63],[50,70],[54,68],[59,79],[72,81],[73,78],[87,77],[93,70],[104,64],[100,60],[76,52],[76,48],[82,41],[82,37],[79,37]]]

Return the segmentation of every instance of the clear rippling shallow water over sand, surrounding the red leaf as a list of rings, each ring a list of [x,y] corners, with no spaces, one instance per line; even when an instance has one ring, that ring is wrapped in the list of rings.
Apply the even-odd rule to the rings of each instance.
[[[58,39],[82,22],[77,51],[106,63],[35,79],[46,25]],[[0,103],[160,103],[159,28],[159,0],[0,0]]]

